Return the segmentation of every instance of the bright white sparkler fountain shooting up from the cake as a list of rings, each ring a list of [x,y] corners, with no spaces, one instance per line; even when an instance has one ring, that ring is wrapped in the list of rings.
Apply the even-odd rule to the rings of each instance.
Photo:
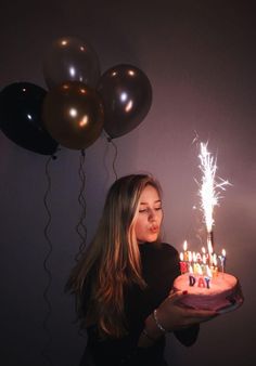
[[[212,258],[214,250],[214,208],[215,206],[219,206],[219,199],[221,198],[220,191],[226,191],[226,186],[230,185],[230,183],[221,178],[216,178],[217,158],[207,151],[207,145],[208,143],[200,144],[199,158],[202,180],[199,195],[201,197],[201,209],[207,230],[208,253]]]

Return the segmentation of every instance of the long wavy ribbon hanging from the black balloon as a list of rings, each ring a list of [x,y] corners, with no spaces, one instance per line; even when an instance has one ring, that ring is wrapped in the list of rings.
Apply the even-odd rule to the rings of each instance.
[[[50,329],[49,329],[49,326],[48,326],[48,322],[49,322],[49,318],[50,318],[51,312],[52,312],[51,302],[48,298],[48,291],[49,291],[49,289],[51,287],[51,283],[52,283],[52,275],[51,275],[51,272],[48,267],[48,260],[49,260],[51,252],[52,252],[52,244],[51,244],[51,240],[50,240],[50,237],[49,237],[49,234],[48,234],[49,226],[50,226],[50,223],[51,223],[51,211],[49,209],[48,201],[47,201],[48,195],[51,192],[51,177],[50,177],[50,173],[49,173],[49,165],[50,165],[50,161],[52,159],[55,159],[55,156],[50,157],[47,160],[47,164],[46,164],[46,175],[47,175],[48,186],[47,186],[47,191],[46,191],[44,196],[43,196],[43,204],[44,204],[44,208],[46,208],[47,213],[48,213],[47,224],[46,224],[44,230],[43,230],[44,238],[48,243],[48,252],[47,252],[47,256],[43,260],[43,269],[44,269],[44,272],[47,273],[47,276],[48,276],[48,283],[47,283],[47,286],[43,290],[43,299],[47,303],[47,314],[46,314],[46,317],[43,319],[42,327],[43,327],[43,330],[46,331],[46,335],[47,335],[47,341],[46,341],[46,344],[44,344],[44,347],[41,351],[41,355],[44,358],[44,365],[52,365],[52,361],[48,355],[48,351],[49,351],[49,348],[50,348],[51,342],[52,342],[51,332],[50,332]]]

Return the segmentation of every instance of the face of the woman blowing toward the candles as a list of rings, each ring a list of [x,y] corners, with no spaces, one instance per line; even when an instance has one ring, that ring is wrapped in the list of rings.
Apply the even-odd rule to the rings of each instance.
[[[162,201],[158,192],[146,185],[139,199],[139,210],[135,222],[138,243],[155,241],[163,220]]]

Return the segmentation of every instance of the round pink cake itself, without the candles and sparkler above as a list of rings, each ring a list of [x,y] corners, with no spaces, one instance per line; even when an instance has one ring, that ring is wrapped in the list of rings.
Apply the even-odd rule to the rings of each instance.
[[[174,290],[188,291],[180,303],[193,309],[220,311],[240,302],[238,278],[228,273],[214,278],[184,273],[175,279]]]

